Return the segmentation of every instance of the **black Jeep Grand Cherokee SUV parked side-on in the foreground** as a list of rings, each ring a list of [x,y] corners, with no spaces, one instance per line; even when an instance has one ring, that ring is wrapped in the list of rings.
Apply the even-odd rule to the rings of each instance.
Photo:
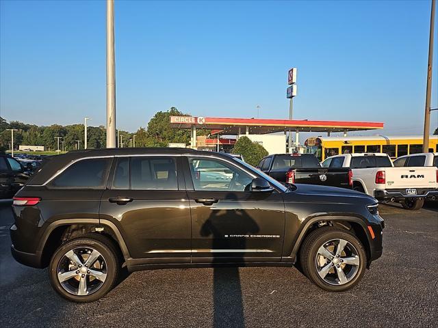
[[[225,154],[181,148],[69,152],[14,197],[14,258],[49,266],[66,299],[95,301],[120,268],[293,265],[330,291],[355,286],[382,254],[374,198],[287,189]]]

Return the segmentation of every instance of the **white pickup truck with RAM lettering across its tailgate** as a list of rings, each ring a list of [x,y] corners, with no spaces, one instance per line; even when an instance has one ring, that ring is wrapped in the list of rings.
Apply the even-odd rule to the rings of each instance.
[[[400,202],[408,210],[419,210],[424,199],[438,197],[437,167],[394,167],[383,153],[331,156],[323,167],[350,167],[353,189],[368,193],[381,202]]]

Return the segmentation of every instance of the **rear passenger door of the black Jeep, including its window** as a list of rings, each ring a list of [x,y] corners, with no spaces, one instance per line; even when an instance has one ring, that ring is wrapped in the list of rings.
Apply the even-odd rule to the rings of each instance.
[[[190,206],[179,161],[120,157],[112,169],[114,179],[103,193],[99,216],[119,228],[133,258],[190,262]]]

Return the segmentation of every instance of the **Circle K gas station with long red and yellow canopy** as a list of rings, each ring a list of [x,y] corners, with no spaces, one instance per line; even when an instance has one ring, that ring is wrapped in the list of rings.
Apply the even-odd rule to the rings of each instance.
[[[300,132],[344,133],[351,131],[366,131],[382,129],[381,122],[351,122],[351,121],[320,121],[320,120],[274,120],[261,118],[206,118],[202,116],[171,116],[172,128],[190,128],[190,148],[219,150],[220,148],[232,148],[235,140],[246,135],[253,141],[263,144],[268,152],[286,152],[286,135],[295,133],[295,143],[291,148],[300,146],[298,137]],[[196,137],[197,129],[208,129],[211,135],[217,134],[218,138],[208,139]],[[235,135],[235,139],[220,138],[220,135]],[[268,143],[276,150],[269,150]],[[271,147],[271,148],[272,148]]]

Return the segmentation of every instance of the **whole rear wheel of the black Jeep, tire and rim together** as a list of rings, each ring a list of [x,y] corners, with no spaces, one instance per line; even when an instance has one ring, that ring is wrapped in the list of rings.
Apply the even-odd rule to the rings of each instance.
[[[96,301],[117,281],[120,260],[112,241],[86,234],[61,245],[49,265],[50,282],[69,301]]]

